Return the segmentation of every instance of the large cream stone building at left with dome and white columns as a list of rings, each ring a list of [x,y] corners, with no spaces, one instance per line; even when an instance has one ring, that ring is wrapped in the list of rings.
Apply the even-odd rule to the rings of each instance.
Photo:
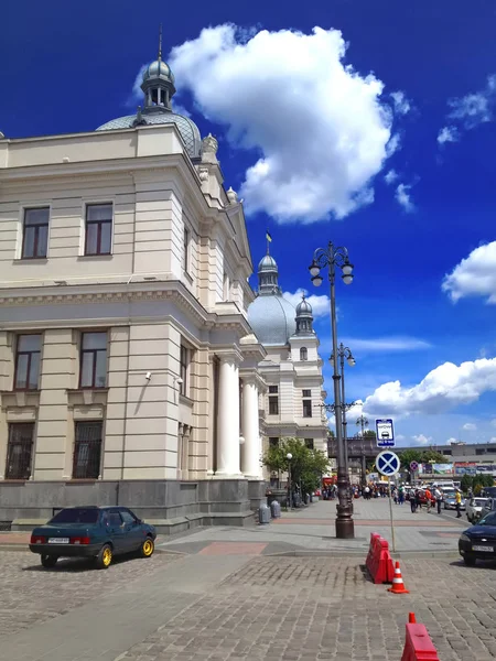
[[[0,139],[0,520],[13,525],[77,502],[142,508],[163,531],[239,523],[261,492],[266,351],[248,323],[242,205],[215,138],[172,111],[160,54],[142,90],[134,116],[94,132]]]

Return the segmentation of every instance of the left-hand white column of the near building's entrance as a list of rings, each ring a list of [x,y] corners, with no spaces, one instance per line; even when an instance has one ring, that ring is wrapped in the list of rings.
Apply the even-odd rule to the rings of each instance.
[[[234,354],[220,355],[219,359],[216,475],[239,478],[238,357]]]

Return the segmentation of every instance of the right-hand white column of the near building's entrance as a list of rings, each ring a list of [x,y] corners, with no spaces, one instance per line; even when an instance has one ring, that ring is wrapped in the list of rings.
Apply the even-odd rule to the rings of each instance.
[[[242,435],[241,468],[245,477],[261,479],[260,430],[258,419],[258,383],[256,377],[242,378]]]

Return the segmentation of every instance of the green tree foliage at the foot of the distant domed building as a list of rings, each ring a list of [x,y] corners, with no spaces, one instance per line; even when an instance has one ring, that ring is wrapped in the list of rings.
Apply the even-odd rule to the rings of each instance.
[[[291,459],[291,481],[300,485],[302,492],[308,494],[320,487],[322,476],[328,472],[328,458],[320,449],[310,449],[301,438],[281,438],[276,447],[269,447],[262,463],[270,470],[287,472]]]

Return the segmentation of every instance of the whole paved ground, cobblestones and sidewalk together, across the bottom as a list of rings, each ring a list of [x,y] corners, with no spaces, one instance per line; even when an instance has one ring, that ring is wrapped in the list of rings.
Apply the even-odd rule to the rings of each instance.
[[[120,560],[108,571],[83,561],[43,571],[31,553],[0,551],[0,658],[400,661],[405,624],[414,611],[441,661],[495,659],[496,565],[465,567],[453,553],[453,535],[466,523],[398,510],[401,544],[410,533],[422,541],[400,553],[409,595],[368,581],[368,539],[346,542],[353,548],[345,550],[332,538],[332,501],[283,513],[263,528],[162,538],[160,548],[174,553]],[[357,525],[360,534],[387,528],[387,501],[358,501],[355,511],[357,521],[368,521]],[[436,550],[432,539],[449,546]],[[321,555],[294,555],[311,552]]]

